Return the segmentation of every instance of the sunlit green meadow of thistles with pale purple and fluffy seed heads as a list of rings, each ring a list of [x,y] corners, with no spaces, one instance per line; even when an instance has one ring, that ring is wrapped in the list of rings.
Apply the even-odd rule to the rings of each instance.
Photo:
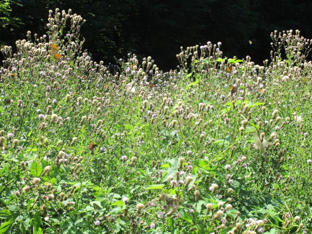
[[[299,31],[273,32],[263,66],[208,42],[163,72],[150,57],[92,61],[79,15],[48,20],[1,49],[1,234],[312,232]]]

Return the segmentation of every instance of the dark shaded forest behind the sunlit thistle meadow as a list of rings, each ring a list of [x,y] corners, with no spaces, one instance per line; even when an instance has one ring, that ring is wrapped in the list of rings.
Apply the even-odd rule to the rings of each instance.
[[[7,2],[9,0],[6,0]],[[1,0],[0,0],[1,2]],[[95,61],[117,64],[135,53],[152,56],[161,70],[175,69],[180,46],[222,42],[224,56],[256,63],[270,58],[274,30],[299,29],[311,38],[310,1],[294,0],[19,0],[9,1],[12,22],[1,27],[2,44],[15,45],[27,31],[46,33],[48,10],[55,8],[81,15],[85,49]],[[13,20],[19,18],[19,20]],[[252,44],[249,43],[252,41]],[[310,60],[310,58],[308,58]]]

